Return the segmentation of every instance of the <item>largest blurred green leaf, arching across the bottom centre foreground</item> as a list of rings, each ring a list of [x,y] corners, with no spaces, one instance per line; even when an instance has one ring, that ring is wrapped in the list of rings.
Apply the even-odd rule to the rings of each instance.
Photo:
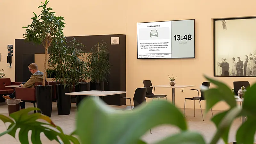
[[[79,106],[76,128],[84,144],[134,144],[160,124],[187,130],[180,110],[164,100],[141,104],[132,111],[116,111],[101,100],[87,98]]]

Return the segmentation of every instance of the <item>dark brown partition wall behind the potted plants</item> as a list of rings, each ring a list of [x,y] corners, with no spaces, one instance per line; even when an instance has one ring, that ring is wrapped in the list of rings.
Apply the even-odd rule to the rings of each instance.
[[[89,52],[93,45],[102,42],[102,40],[108,44],[111,70],[109,82],[108,84],[105,83],[105,90],[126,91],[126,35],[69,36],[66,37],[67,41],[71,41],[73,37],[85,45],[84,52]],[[119,37],[120,44],[111,45],[111,37]],[[27,63],[22,63],[23,54],[44,53],[44,47],[25,42],[24,39],[15,39],[15,51],[15,80],[16,82],[23,82],[23,73],[25,74],[25,71],[28,70],[26,69],[28,68]],[[29,63],[32,62],[34,60]],[[121,99],[120,96],[126,97],[126,94],[106,96],[104,101],[110,105],[125,105],[126,100]]]

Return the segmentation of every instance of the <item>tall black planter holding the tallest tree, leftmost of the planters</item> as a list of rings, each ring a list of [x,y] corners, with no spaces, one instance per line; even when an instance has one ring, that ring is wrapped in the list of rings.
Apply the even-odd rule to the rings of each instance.
[[[36,86],[36,105],[41,113],[51,117],[52,115],[52,85]]]

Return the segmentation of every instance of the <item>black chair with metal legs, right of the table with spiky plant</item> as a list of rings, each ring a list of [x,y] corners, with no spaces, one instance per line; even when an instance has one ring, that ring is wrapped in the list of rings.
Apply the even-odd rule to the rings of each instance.
[[[202,85],[203,85],[203,86],[206,86],[206,87],[209,89],[210,84],[211,84],[211,82],[203,82]],[[203,93],[202,90],[200,89],[200,93],[201,93],[201,97],[200,97],[200,96],[199,96],[199,90],[197,90],[197,89],[190,89],[190,90],[197,91],[198,96],[193,97],[193,98],[185,98],[185,103],[184,103],[184,116],[185,116],[186,100],[194,100],[194,116],[195,116],[195,107],[196,107],[196,102],[195,102],[195,101],[198,100],[198,101],[199,101],[199,105],[200,105],[200,109],[201,109],[202,118],[203,118],[203,121],[204,121],[204,116],[203,116],[202,107],[201,107],[201,103],[200,103],[201,100],[205,100],[204,93]],[[212,108],[211,108],[211,111],[212,111]],[[213,117],[213,113],[212,113],[212,117]]]

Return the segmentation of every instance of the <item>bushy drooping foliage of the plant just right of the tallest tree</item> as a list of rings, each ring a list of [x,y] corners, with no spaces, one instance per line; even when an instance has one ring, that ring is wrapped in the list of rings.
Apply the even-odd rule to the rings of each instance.
[[[64,86],[74,86],[87,79],[87,63],[84,62],[84,47],[75,38],[66,43],[55,38],[50,46],[48,74],[54,75],[56,82]]]

